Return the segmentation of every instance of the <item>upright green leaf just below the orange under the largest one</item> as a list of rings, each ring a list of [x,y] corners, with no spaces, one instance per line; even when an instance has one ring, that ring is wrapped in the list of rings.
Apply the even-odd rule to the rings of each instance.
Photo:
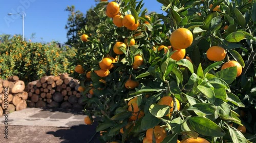
[[[163,79],[173,70],[175,66],[175,60],[167,58],[161,65],[161,71],[163,73]]]

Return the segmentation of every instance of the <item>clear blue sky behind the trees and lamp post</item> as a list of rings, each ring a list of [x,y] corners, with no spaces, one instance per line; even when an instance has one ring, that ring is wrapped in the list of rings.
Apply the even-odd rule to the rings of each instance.
[[[110,2],[110,0],[109,0]],[[161,11],[161,4],[156,0],[144,0],[144,8],[148,12]],[[68,19],[67,6],[74,5],[76,10],[86,14],[87,10],[95,7],[94,0],[1,0],[0,1],[0,35],[22,35],[22,18],[20,15],[9,16],[8,13],[25,11],[25,38],[32,42],[58,41],[61,44],[67,41],[65,25]]]

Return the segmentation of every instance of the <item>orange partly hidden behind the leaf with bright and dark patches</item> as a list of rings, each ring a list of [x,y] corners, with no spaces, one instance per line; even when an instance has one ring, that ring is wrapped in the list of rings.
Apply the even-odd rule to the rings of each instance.
[[[177,109],[178,110],[180,110],[180,102],[179,102],[179,100],[177,100],[176,99],[176,101],[177,101]],[[170,96],[164,96],[164,97],[162,97],[159,101],[158,101],[158,103],[157,104],[159,104],[159,105],[168,105],[168,106],[170,106],[171,108],[170,108],[170,113],[169,114],[167,114],[166,116],[172,116],[172,112],[173,112],[173,110],[174,110],[174,102],[173,102],[173,98],[172,97],[170,97]]]

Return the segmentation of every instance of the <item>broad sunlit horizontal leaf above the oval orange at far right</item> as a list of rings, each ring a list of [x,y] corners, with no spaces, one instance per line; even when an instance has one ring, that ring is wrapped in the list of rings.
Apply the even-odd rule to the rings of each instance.
[[[251,35],[249,33],[243,32],[243,31],[237,31],[237,32],[232,32],[230,33],[225,40],[227,40],[228,42],[233,42],[233,43],[237,43],[240,42],[243,39],[247,39],[251,37]]]

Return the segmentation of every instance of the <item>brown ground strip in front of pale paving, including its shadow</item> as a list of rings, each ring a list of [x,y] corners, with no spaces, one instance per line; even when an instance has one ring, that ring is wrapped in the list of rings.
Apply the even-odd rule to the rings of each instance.
[[[72,127],[8,126],[8,139],[4,138],[4,125],[0,125],[1,143],[100,143],[97,123]],[[96,133],[96,134],[95,134]],[[94,136],[95,135],[95,136]]]

